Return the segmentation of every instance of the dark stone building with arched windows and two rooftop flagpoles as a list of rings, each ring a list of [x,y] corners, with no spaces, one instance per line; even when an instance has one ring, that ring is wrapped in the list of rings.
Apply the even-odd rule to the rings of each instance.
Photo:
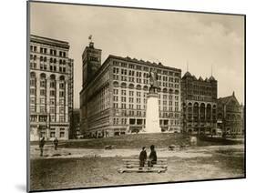
[[[187,72],[181,80],[183,132],[210,134],[217,124],[217,80]]]

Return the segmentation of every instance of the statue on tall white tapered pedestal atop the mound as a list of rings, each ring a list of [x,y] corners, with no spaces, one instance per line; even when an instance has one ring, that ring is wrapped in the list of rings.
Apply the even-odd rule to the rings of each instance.
[[[147,96],[146,108],[146,133],[160,133],[159,124],[159,94],[158,94],[158,75],[156,72],[149,73],[150,88]]]

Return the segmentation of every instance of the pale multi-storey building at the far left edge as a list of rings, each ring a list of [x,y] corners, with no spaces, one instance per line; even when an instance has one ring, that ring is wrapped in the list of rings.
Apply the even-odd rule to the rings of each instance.
[[[69,44],[30,36],[30,140],[68,139],[73,111],[73,59]]]

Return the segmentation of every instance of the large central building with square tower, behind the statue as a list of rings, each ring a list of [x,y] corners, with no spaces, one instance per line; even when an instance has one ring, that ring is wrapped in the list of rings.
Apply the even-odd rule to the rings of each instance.
[[[88,137],[110,137],[145,127],[148,73],[159,76],[159,121],[162,131],[180,132],[181,70],[130,57],[108,56],[90,42],[83,53],[80,92],[81,131]]]

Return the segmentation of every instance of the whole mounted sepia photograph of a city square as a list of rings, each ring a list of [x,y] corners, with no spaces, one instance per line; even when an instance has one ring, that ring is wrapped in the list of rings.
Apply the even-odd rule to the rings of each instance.
[[[245,15],[28,1],[27,22],[28,191],[246,178]]]

